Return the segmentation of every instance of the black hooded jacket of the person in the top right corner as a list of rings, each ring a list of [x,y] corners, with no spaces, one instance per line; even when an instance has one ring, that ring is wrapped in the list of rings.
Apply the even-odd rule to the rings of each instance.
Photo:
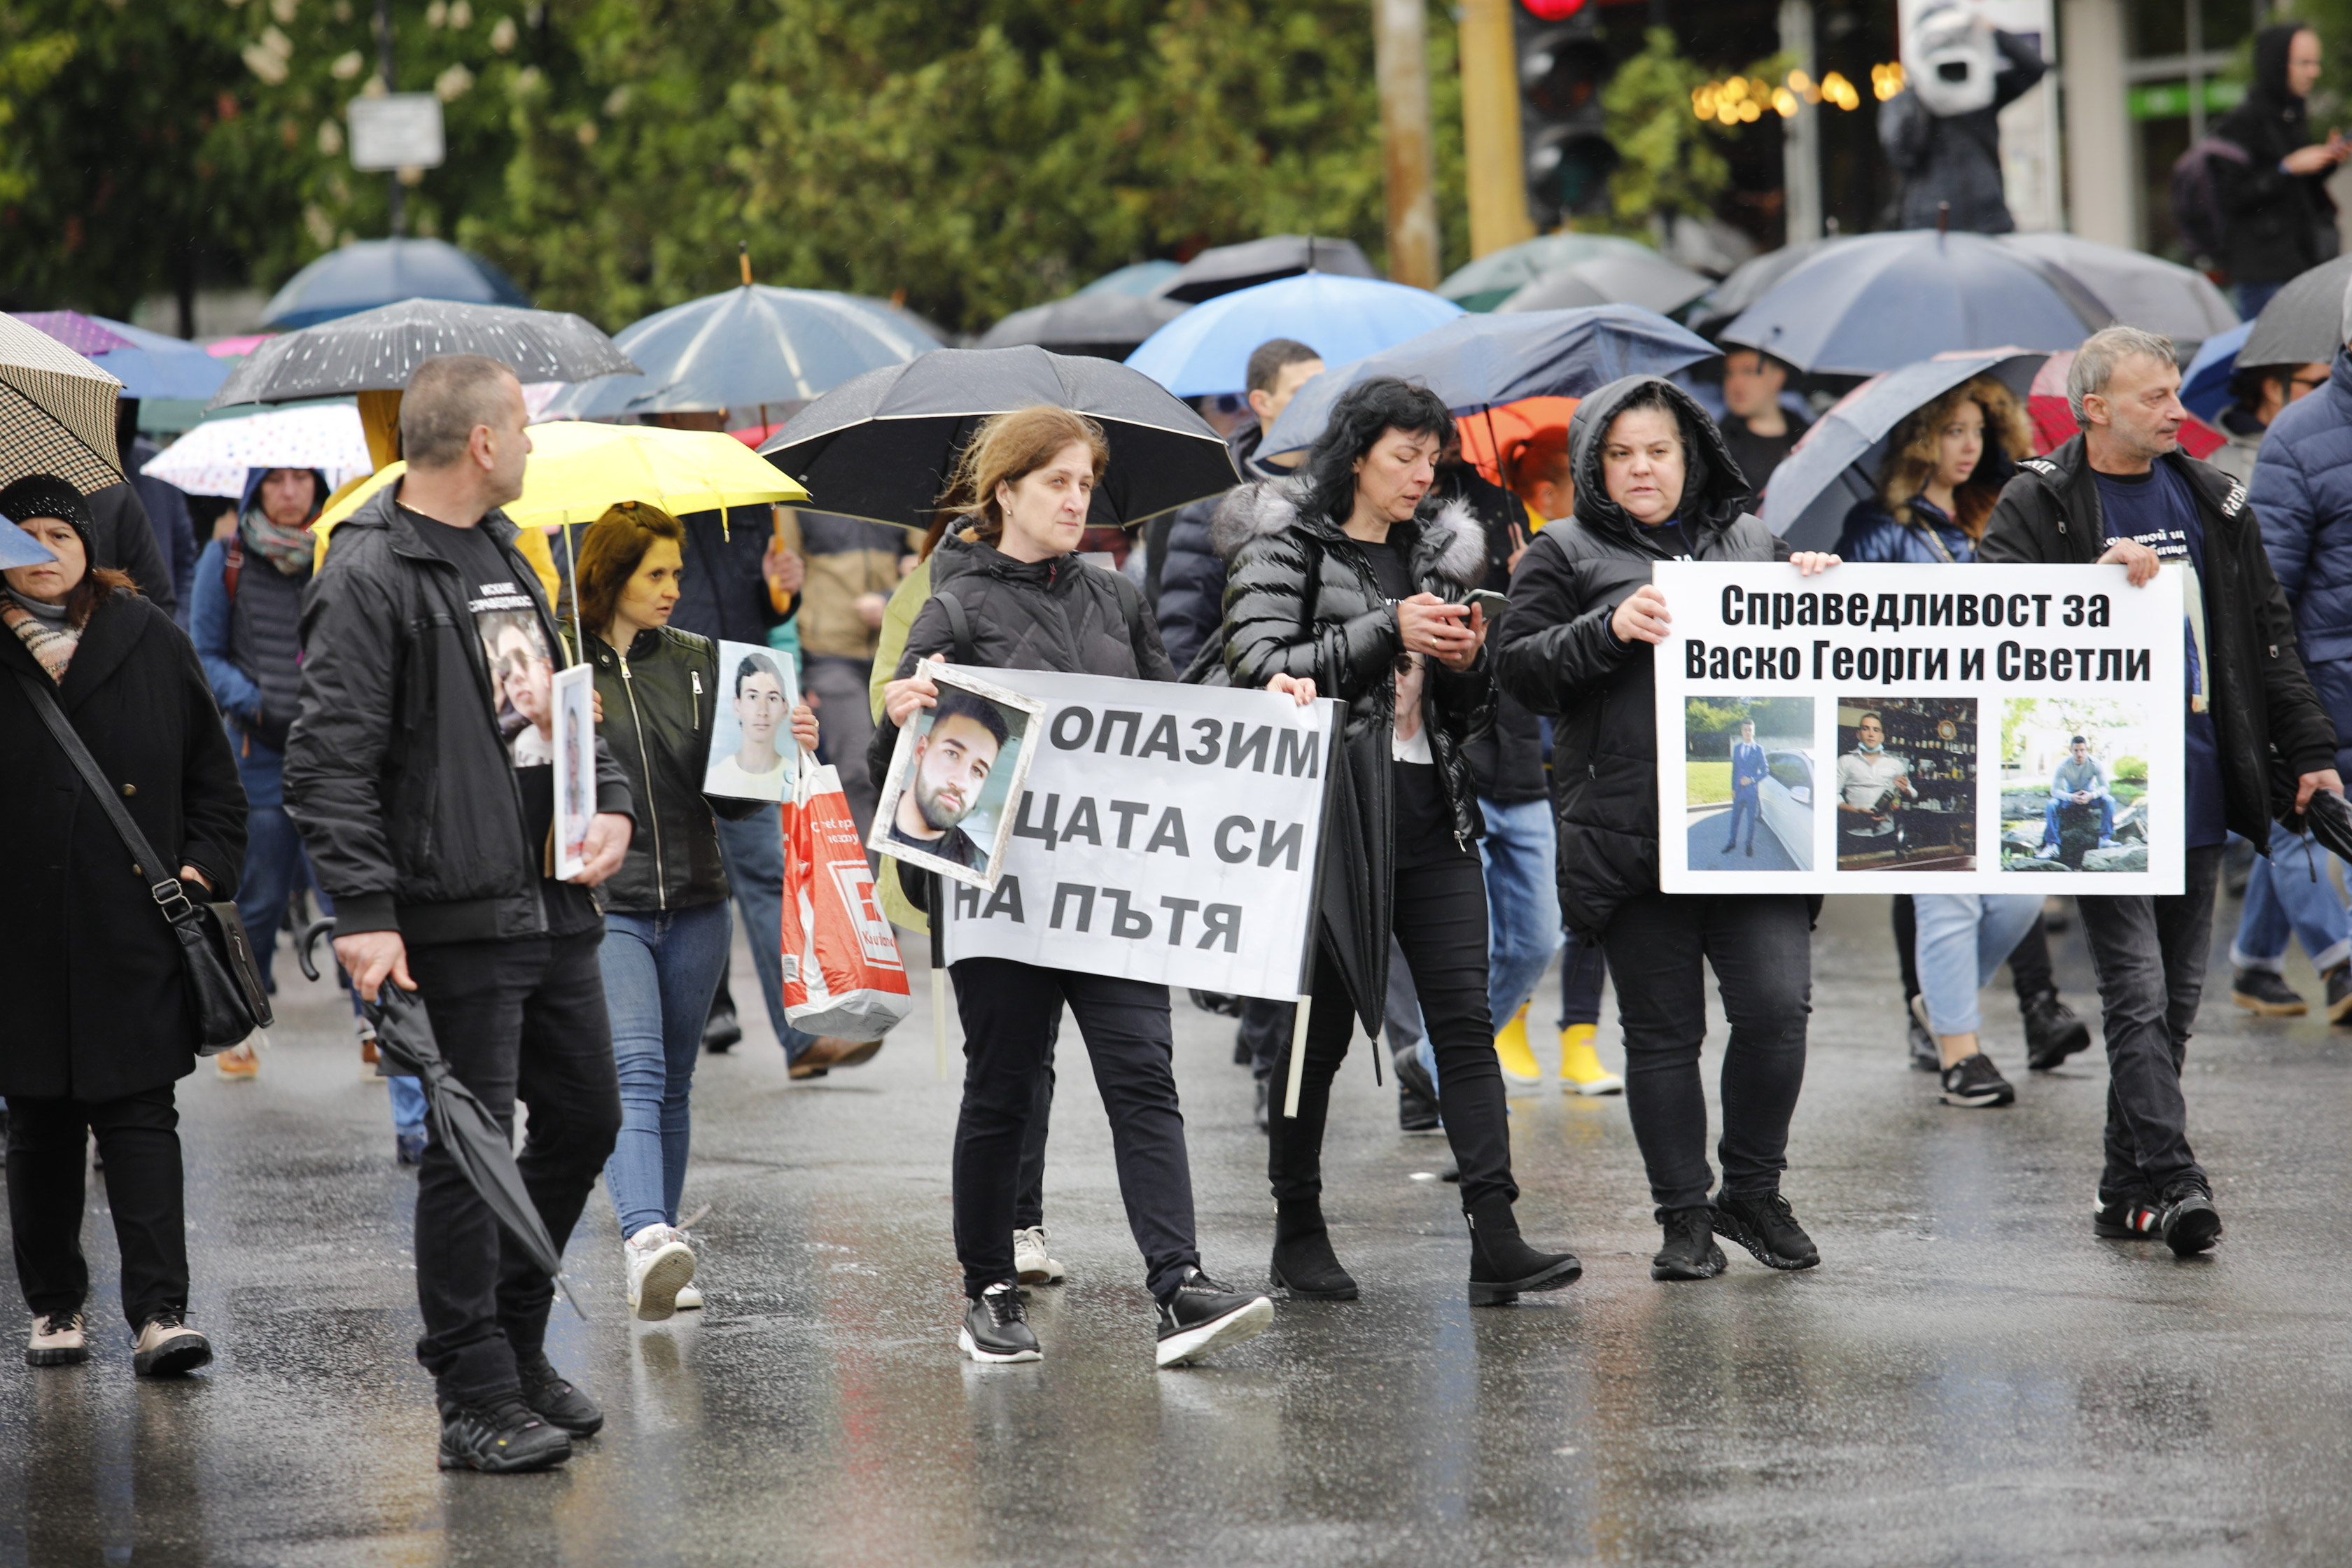
[[[2230,277],[2286,282],[2336,254],[2336,197],[2328,174],[2288,174],[2279,165],[2310,146],[2310,106],[2286,89],[2286,54],[2307,21],[2281,21],[2253,35],[2253,87],[2213,134],[2246,148],[2246,167],[2220,181],[2227,216]]]

